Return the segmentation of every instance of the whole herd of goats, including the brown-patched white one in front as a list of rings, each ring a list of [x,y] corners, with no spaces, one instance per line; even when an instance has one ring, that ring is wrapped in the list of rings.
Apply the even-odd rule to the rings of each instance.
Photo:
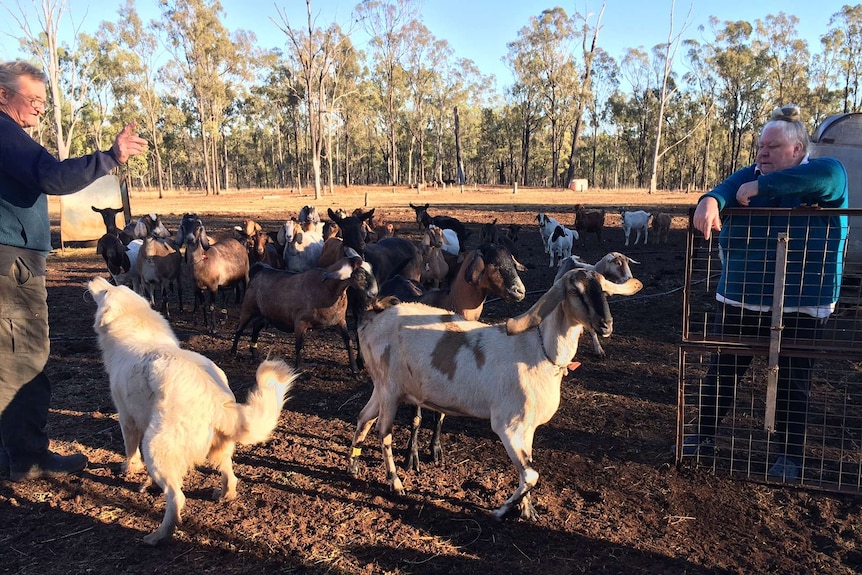
[[[410,206],[422,230],[418,242],[396,235],[391,224],[375,222],[374,209],[352,214],[329,209],[324,221],[314,207],[305,206],[275,233],[246,220],[228,234],[213,236],[195,214],[185,214],[172,235],[156,215],[120,229],[116,216],[121,210],[92,209],[105,222],[97,252],[113,282],[131,287],[152,307],[160,298],[165,317],[170,318],[171,292],[182,311],[184,267],[193,278],[195,308],[201,305],[210,330],[216,325],[219,290],[236,289],[241,303],[234,354],[250,326],[251,354],[257,360],[260,332],[272,326],[294,334],[298,368],[309,329],[338,329],[350,369],[357,374],[364,366],[374,383],[353,437],[352,473],[359,469],[359,445],[376,421],[387,481],[393,491],[404,492],[391,436],[400,403],[417,408],[408,468],[418,469],[421,408],[438,415],[435,461],[442,454],[445,414],[488,419],[519,474],[517,489],[494,516],[518,511],[532,518],[530,490],[538,480],[532,467],[534,432],[559,406],[561,380],[577,365],[581,333],[589,333],[593,349],[603,355],[599,339],[613,329],[606,297],[632,295],[643,287],[632,277],[634,260],[611,252],[589,264],[572,255],[574,242],[586,234],[601,239],[604,210],[578,206],[573,229],[540,213],[536,222],[544,251],[549,266],[558,269],[554,283],[526,312],[487,324],[478,321],[487,298],[519,302],[526,296],[518,274],[525,269],[518,261],[519,226],[503,229],[496,220],[483,224],[480,245],[468,250],[471,231],[462,222],[430,215],[428,204]],[[650,220],[659,241],[667,241],[669,215],[623,211],[621,217],[626,245],[632,231],[635,243],[641,234],[647,242]],[[348,330],[348,320],[355,329]]]

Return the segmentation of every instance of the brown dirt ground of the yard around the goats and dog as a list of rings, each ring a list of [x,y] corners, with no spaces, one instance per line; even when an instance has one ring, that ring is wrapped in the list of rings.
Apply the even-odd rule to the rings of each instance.
[[[432,214],[479,225],[524,226],[520,258],[528,296],[518,305],[490,302],[483,319],[499,321],[527,309],[551,284],[535,215],[573,221],[575,201],[672,213],[667,245],[624,248],[612,213],[601,244],[576,253],[596,261],[613,250],[640,262],[641,293],[612,300],[614,335],[598,359],[587,340],[582,366],[563,380],[556,416],[539,428],[533,492],[538,520],[497,522],[490,511],[517,485],[514,467],[488,422],[447,418],[445,461],[435,465],[423,429],[420,473],[401,471],[407,494],[389,492],[376,433],[366,441],[360,477],[346,470],[356,417],[371,392],[354,378],[335,332],[312,333],[303,375],[270,441],[240,447],[239,497],[211,500],[218,474],[202,467],[186,479],[184,523],[173,541],[146,547],[141,538],[162,519],[160,493],[139,493],[119,475],[122,437],[92,330],[94,304],[85,283],[107,276],[95,249],[57,250],[49,259],[54,401],[53,447],[90,458],[79,477],[13,484],[0,481],[0,572],[78,573],[821,573],[862,570],[862,512],[855,495],[794,489],[712,476],[671,460],[676,425],[685,231],[696,195],[616,192],[458,194],[377,192],[313,198],[231,195],[155,200],[133,196],[134,215],[157,212],[176,229],[196,211],[208,231],[253,217],[275,229],[304,203],[385,211],[400,234],[418,238],[408,202],[429,202]],[[658,206],[661,204],[661,206]],[[56,211],[52,212],[56,213]],[[56,218],[53,219],[58,224]],[[59,234],[59,230],[55,229]],[[189,292],[187,292],[188,294]],[[254,380],[248,338],[230,353],[237,308],[209,335],[202,318],[185,311],[171,323],[189,349],[213,359],[242,399]],[[261,355],[294,357],[293,336],[265,331]],[[399,413],[394,444],[403,466],[412,410]]]

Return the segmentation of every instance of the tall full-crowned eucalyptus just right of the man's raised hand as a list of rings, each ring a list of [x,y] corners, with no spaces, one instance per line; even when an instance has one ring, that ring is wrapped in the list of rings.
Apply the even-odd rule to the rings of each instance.
[[[244,31],[229,34],[218,0],[163,0],[161,9],[160,29],[182,75],[176,85],[181,79],[188,85],[197,114],[204,189],[217,194],[221,122],[232,88],[248,80],[254,38]]]

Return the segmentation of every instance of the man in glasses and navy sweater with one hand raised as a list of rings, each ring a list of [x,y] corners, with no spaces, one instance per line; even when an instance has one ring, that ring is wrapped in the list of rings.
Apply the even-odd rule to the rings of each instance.
[[[0,474],[12,481],[78,473],[81,453],[49,450],[51,382],[46,256],[51,251],[48,195],[75,193],[134,155],[147,142],[134,124],[106,152],[59,161],[25,131],[45,112],[45,74],[0,63]]]

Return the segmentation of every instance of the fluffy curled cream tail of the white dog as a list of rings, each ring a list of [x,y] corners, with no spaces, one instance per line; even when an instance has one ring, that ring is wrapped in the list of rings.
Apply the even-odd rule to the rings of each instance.
[[[278,416],[299,374],[281,360],[266,360],[257,368],[257,386],[239,406],[236,442],[262,443],[278,425]]]

